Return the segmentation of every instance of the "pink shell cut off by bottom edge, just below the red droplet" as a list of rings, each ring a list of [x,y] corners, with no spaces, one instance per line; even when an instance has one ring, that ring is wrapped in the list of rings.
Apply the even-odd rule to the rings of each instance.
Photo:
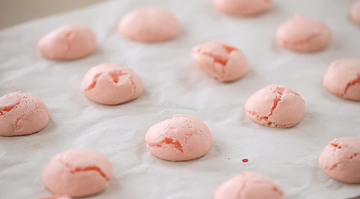
[[[269,178],[255,172],[243,172],[230,178],[216,190],[214,199],[285,199],[284,191]]]

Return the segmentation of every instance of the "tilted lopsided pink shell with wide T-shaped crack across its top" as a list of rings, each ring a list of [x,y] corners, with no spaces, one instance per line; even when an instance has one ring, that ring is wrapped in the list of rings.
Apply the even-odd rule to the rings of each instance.
[[[238,80],[249,71],[249,64],[243,53],[219,41],[195,46],[192,57],[205,72],[222,82]]]

